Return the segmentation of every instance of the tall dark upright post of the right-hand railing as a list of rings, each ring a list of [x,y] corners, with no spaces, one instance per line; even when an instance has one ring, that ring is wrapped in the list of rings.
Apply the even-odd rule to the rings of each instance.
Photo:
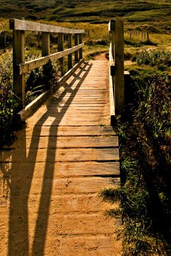
[[[124,113],[124,24],[115,19],[115,112]]]

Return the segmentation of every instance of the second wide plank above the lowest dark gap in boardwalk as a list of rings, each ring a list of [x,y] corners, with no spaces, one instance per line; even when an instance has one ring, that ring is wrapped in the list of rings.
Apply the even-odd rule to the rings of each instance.
[[[20,154],[19,154],[20,151]],[[31,148],[29,149],[29,155],[38,162],[63,162],[63,161],[115,161],[119,160],[119,149],[118,148]],[[1,162],[11,162],[11,152],[1,154]],[[30,161],[32,161],[30,157]],[[15,150],[13,152],[13,162],[27,161],[26,152],[21,150]]]

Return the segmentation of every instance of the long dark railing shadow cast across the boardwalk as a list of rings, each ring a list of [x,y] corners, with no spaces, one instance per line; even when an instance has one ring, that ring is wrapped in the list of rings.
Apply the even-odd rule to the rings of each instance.
[[[11,152],[12,165],[10,169],[10,220],[8,232],[9,256],[44,255],[45,242],[47,238],[50,199],[52,196],[53,177],[54,172],[57,172],[57,170],[54,170],[55,161],[57,161],[56,147],[52,147],[51,145],[57,145],[57,125],[60,124],[64,114],[70,107],[72,100],[77,94],[81,84],[84,82],[85,77],[87,74],[89,74],[91,67],[92,64],[84,63],[84,67],[80,67],[77,75],[73,75],[74,78],[71,83],[63,84],[64,91],[60,94],[61,102],[63,101],[63,98],[68,90],[70,91],[70,96],[67,100],[65,100],[63,106],[60,107],[63,111],[61,111],[60,115],[58,116],[57,113],[53,114],[47,108],[45,114],[43,114],[38,122],[36,122],[34,125],[29,148],[27,148],[26,144],[26,130],[23,130],[22,147],[20,147],[20,150],[17,150],[16,148],[14,152]],[[71,86],[73,86],[77,80],[77,85],[74,89],[72,89]],[[31,213],[29,210],[28,200],[31,193],[31,186],[33,186],[34,183],[33,176],[34,168],[37,162],[36,159],[38,154],[40,154],[38,152],[38,147],[40,143],[41,128],[47,120],[48,116],[54,118],[54,121],[50,126],[48,137],[46,137],[48,140],[46,149],[47,151],[45,159],[42,162],[42,169],[44,168],[44,171],[37,218],[36,220],[32,218],[31,221],[34,223],[31,224],[29,216]],[[41,166],[41,163],[39,164]],[[38,195],[35,193],[34,196]],[[34,204],[33,201],[32,205]],[[32,228],[31,225],[33,225],[34,228]]]

